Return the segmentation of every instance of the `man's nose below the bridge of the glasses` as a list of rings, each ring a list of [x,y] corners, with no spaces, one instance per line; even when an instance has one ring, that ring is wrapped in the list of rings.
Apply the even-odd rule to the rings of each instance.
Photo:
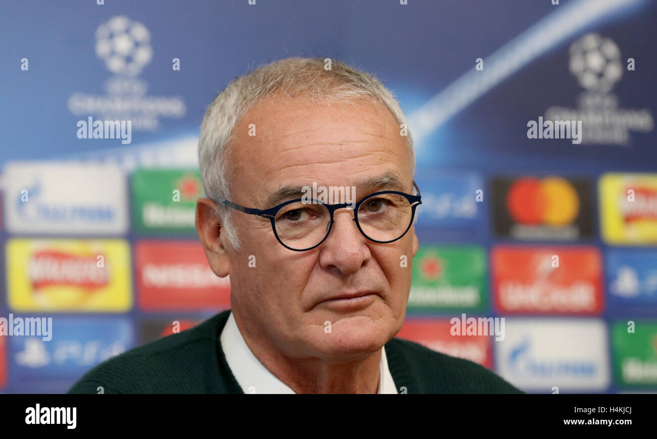
[[[330,234],[320,246],[319,264],[344,275],[357,273],[372,258],[367,239],[353,221],[353,209],[336,210],[333,221]]]

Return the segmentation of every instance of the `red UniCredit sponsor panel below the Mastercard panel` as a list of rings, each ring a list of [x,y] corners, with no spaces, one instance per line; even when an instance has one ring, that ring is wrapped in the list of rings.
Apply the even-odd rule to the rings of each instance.
[[[497,246],[491,273],[499,312],[599,314],[604,306],[597,248]]]

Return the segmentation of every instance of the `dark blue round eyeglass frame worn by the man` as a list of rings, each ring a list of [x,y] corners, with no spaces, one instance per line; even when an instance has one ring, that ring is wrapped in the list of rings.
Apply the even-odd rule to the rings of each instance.
[[[231,207],[235,210],[239,210],[240,212],[244,212],[245,214],[258,215],[258,216],[261,216],[263,218],[269,218],[269,221],[271,221],[271,229],[274,232],[274,236],[276,237],[277,241],[279,241],[279,243],[281,243],[282,246],[284,246],[288,250],[292,250],[294,252],[306,252],[307,250],[312,250],[313,248],[316,248],[316,247],[320,246],[324,241],[326,241],[326,239],[328,238],[328,235],[330,234],[330,231],[333,229],[333,214],[334,214],[334,212],[338,209],[344,209],[344,208],[350,208],[351,210],[353,210],[353,221],[355,221],[356,227],[358,227],[358,230],[360,231],[361,235],[363,235],[365,238],[369,239],[369,241],[372,241],[373,243],[379,243],[379,244],[389,244],[389,243],[394,243],[395,241],[401,239],[409,231],[409,229],[411,228],[411,225],[413,225],[413,219],[415,219],[415,208],[417,208],[417,206],[422,204],[422,200],[421,200],[421,197],[420,197],[420,188],[417,187],[417,184],[415,183],[415,180],[413,181],[413,187],[417,191],[417,195],[411,195],[411,194],[407,194],[407,193],[403,193],[403,192],[399,192],[399,191],[379,191],[379,192],[375,192],[375,193],[364,196],[363,198],[358,200],[353,205],[354,206],[353,208],[351,208],[351,203],[327,204],[325,202],[321,202],[321,201],[315,200],[315,199],[297,198],[296,200],[288,200],[286,202],[283,202],[283,203],[279,204],[278,206],[274,206],[274,207],[269,208],[269,209],[256,209],[256,208],[249,208],[249,207],[240,206],[239,204],[235,204],[234,202],[231,202],[229,200],[219,200],[219,199],[215,199],[215,198],[211,198],[211,199],[214,202],[225,204],[226,206],[229,206],[229,207]],[[365,202],[365,200],[368,200],[369,198],[372,198],[375,195],[384,195],[384,194],[395,194],[395,195],[401,195],[401,196],[405,197],[409,201],[409,204],[411,204],[411,221],[409,221],[408,227],[406,227],[406,230],[404,231],[404,233],[399,235],[399,237],[397,237],[395,239],[391,239],[390,241],[376,241],[376,239],[372,239],[369,236],[367,236],[365,234],[365,232],[363,231],[363,229],[361,229],[361,225],[358,222],[358,209],[360,208],[361,204],[363,204],[363,202]],[[292,203],[300,202],[300,201],[305,202],[306,204],[322,204],[323,206],[325,206],[327,208],[328,214],[330,215],[330,221],[328,221],[328,227],[327,227],[327,234],[322,238],[321,241],[319,241],[319,243],[313,245],[312,247],[303,248],[303,249],[292,248],[290,246],[287,246],[285,243],[283,243],[283,241],[281,241],[281,238],[279,237],[279,234],[276,231],[276,224],[275,224],[276,216],[279,213],[279,210],[281,210],[282,208],[284,208],[288,204],[292,204]]]

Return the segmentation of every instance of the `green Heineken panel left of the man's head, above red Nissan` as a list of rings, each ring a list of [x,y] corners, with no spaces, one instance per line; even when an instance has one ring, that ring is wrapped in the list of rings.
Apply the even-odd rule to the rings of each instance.
[[[137,231],[195,233],[196,199],[200,196],[203,186],[198,170],[136,170],[132,200]]]

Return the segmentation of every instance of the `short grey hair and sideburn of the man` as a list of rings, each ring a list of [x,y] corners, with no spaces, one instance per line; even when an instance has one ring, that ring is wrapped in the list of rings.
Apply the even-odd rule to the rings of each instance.
[[[328,62],[330,70],[325,68]],[[313,103],[337,101],[355,104],[360,99],[384,104],[399,126],[404,124],[406,127],[411,175],[415,174],[411,131],[399,103],[380,81],[338,60],[285,58],[235,78],[208,106],[198,141],[198,165],[203,188],[209,198],[231,200],[230,183],[235,173],[231,166],[231,156],[235,148],[228,145],[233,138],[235,126],[249,108],[277,91],[289,99],[304,95]],[[232,210],[217,203],[215,213],[221,219],[229,241],[239,250],[237,231],[231,221]]]

